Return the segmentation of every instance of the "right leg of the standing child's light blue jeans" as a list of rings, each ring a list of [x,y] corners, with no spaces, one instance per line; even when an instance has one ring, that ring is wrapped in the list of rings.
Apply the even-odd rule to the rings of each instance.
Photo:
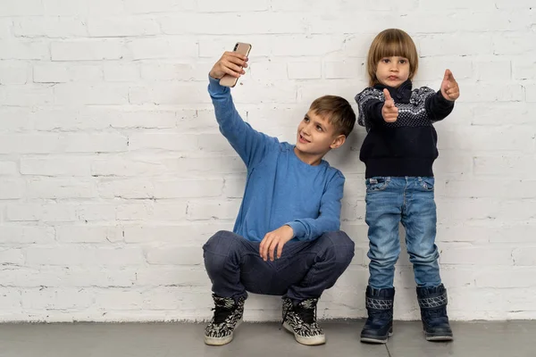
[[[418,287],[440,286],[440,253],[435,245],[437,213],[433,178],[411,178],[403,208],[406,246]]]

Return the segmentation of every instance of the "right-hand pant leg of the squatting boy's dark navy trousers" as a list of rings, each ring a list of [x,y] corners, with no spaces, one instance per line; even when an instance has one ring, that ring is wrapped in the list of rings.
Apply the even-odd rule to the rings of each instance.
[[[325,233],[313,242],[290,245],[287,255],[281,256],[277,265],[274,279],[277,289],[285,289],[287,297],[294,303],[319,298],[348,268],[354,257],[354,246],[348,235],[341,231]]]

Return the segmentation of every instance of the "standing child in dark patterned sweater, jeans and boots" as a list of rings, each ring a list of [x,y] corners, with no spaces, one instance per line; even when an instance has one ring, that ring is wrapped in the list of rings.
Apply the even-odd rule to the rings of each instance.
[[[418,54],[411,37],[400,29],[386,29],[374,38],[369,50],[370,87],[356,95],[358,122],[367,131],[360,160],[366,165],[365,220],[371,260],[362,342],[386,343],[392,335],[400,222],[406,228],[426,339],[453,338],[435,245],[432,164],[438,149],[432,124],[452,112],[459,88],[447,70],[440,91],[429,87],[412,90],[417,68]]]

